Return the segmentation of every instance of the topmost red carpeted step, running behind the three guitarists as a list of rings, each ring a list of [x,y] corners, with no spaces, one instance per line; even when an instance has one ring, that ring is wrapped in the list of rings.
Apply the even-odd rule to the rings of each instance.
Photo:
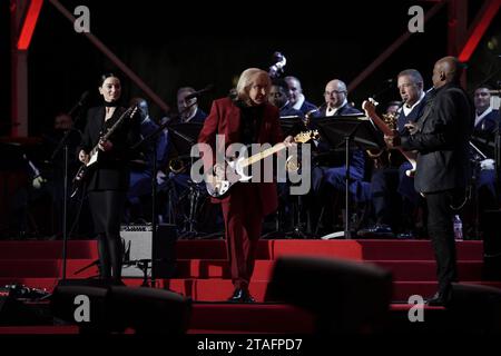
[[[482,259],[482,241],[458,244],[460,260]],[[179,240],[177,258],[225,259],[224,240]],[[283,255],[332,256],[350,259],[433,260],[429,240],[261,240],[258,259],[275,259]],[[0,241],[1,259],[57,259],[62,256],[62,241]],[[68,258],[96,259],[95,240],[68,241]]]

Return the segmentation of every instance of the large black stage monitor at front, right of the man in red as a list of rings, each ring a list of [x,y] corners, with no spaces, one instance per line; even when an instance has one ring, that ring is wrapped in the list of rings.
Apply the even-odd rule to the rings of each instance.
[[[387,327],[392,274],[369,263],[282,256],[266,300],[285,301],[316,317],[316,333],[380,333]]]

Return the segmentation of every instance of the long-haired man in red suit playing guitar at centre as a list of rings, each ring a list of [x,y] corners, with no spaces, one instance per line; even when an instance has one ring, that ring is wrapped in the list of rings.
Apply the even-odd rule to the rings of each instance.
[[[277,144],[282,141],[278,109],[267,102],[271,79],[266,71],[249,68],[242,72],[234,98],[215,100],[198,136],[198,142],[224,149],[232,144]],[[216,145],[216,135],[218,145]],[[222,141],[224,140],[224,144]],[[289,145],[293,138],[284,142]],[[224,175],[225,167],[215,155],[204,156],[205,171]],[[212,171],[210,171],[212,170]],[[252,303],[248,285],[254,270],[263,217],[278,206],[275,182],[238,182],[220,202],[225,220],[232,281],[235,291],[229,301]]]

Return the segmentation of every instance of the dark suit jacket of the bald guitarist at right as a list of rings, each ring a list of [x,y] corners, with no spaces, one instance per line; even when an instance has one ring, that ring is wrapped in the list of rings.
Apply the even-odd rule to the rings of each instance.
[[[404,149],[419,152],[414,187],[420,192],[465,187],[473,106],[455,83],[431,91],[425,99],[418,132],[402,137]]]

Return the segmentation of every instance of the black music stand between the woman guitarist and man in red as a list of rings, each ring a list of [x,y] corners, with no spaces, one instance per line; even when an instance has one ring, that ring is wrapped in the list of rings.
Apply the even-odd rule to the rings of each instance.
[[[189,157],[191,152],[191,146],[197,142],[198,135],[200,134],[203,122],[185,122],[175,123],[168,127],[169,130],[169,145],[171,144],[179,157]],[[191,157],[193,164],[194,157]],[[188,179],[189,189],[189,214],[188,214],[188,230],[179,235],[179,238],[193,238],[198,235],[195,230],[195,214],[196,206],[198,204],[199,191],[197,185]]]

